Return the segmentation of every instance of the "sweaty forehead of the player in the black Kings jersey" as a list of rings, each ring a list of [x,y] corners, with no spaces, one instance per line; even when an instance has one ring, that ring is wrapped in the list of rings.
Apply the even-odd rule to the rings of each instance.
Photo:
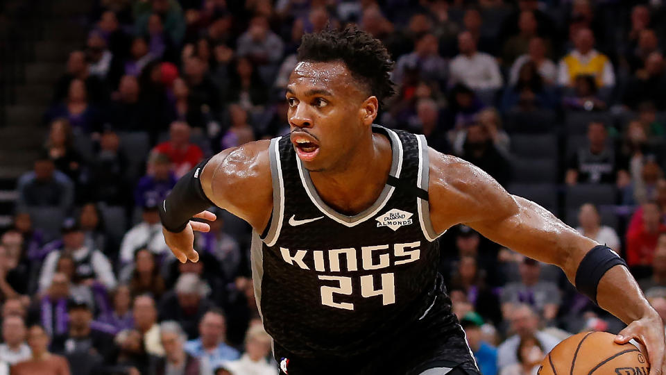
[[[324,89],[330,92],[349,90],[361,93],[359,83],[341,60],[313,62],[300,61],[291,76],[287,88],[294,92],[300,90]]]

